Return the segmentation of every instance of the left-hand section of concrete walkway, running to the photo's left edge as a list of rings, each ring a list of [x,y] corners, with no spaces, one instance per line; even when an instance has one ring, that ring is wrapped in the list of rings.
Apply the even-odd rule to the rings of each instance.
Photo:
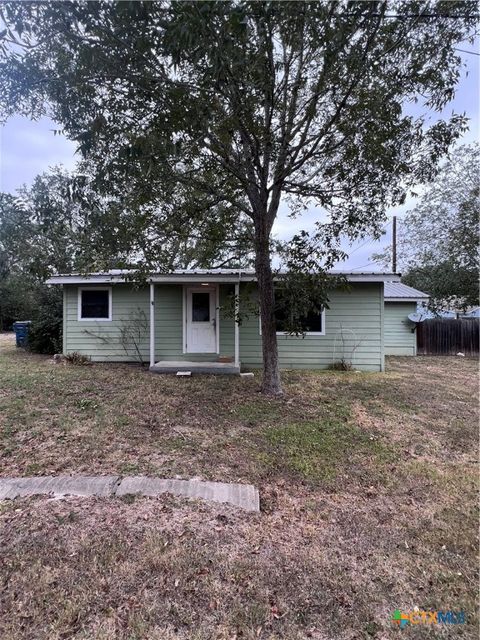
[[[53,494],[56,497],[110,496],[120,476],[37,476],[32,478],[0,478],[0,500]]]

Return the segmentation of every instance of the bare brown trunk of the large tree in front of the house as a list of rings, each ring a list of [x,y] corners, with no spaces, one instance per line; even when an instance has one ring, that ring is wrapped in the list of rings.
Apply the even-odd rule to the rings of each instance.
[[[260,322],[262,327],[263,382],[262,392],[281,395],[278,369],[277,333],[275,326],[275,291],[268,233],[255,234],[255,271],[258,280]]]

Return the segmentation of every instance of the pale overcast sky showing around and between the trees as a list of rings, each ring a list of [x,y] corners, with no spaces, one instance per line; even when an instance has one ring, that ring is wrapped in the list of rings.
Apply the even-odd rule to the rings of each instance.
[[[465,49],[478,54],[479,47],[465,44]],[[462,54],[465,68],[457,86],[455,98],[438,117],[448,117],[456,113],[466,113],[470,119],[469,130],[461,143],[479,140],[479,95],[480,95],[480,58],[478,55]],[[61,135],[54,135],[54,129],[61,127],[51,120],[43,118],[33,122],[27,118],[12,117],[0,128],[0,191],[15,192],[22,184],[30,184],[34,177],[49,167],[62,164],[74,169],[76,163],[75,145]],[[390,212],[400,218],[410,208],[413,200],[405,206]],[[282,239],[288,239],[298,229],[312,228],[315,220],[321,217],[321,211],[311,209],[296,220],[288,218],[288,209],[282,207],[274,227],[274,232]],[[401,222],[400,222],[401,224]],[[357,242],[353,247],[345,245],[350,253],[348,261],[341,268],[376,271],[380,268],[371,263],[371,255],[391,242],[391,225],[387,225],[386,234],[379,242],[369,239]]]

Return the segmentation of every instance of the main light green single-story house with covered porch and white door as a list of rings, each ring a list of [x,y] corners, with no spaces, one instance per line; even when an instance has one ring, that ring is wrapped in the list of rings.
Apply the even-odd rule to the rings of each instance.
[[[334,273],[349,287],[331,292],[329,308],[306,319],[304,335],[286,335],[279,326],[280,366],[325,369],[346,360],[356,369],[383,371],[384,284],[400,278]],[[133,275],[112,270],[47,281],[63,286],[64,355],[79,352],[97,362],[142,359],[157,372],[239,373],[242,367],[261,367],[258,313],[232,312],[232,301],[241,306],[247,292],[249,300],[255,298],[253,271],[158,273],[142,285]]]

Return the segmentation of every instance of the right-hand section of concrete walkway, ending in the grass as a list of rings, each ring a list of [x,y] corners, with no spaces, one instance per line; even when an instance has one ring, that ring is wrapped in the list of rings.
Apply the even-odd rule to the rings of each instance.
[[[251,484],[226,482],[201,482],[199,480],[165,480],[133,476],[123,478],[116,491],[117,496],[138,493],[143,496],[158,496],[172,493],[176,496],[202,498],[213,502],[227,502],[247,511],[260,511],[258,490]]]

